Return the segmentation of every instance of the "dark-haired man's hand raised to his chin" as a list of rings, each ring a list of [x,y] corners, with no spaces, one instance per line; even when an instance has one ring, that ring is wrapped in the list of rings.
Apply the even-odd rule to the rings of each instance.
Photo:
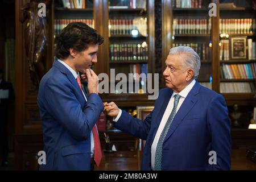
[[[88,80],[88,90],[89,94],[98,94],[98,76],[94,73],[92,69],[86,69],[86,77]]]

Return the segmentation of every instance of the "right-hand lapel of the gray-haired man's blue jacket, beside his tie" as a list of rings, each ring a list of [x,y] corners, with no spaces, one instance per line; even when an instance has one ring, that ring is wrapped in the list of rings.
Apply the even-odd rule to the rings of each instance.
[[[183,101],[182,105],[180,106],[180,109],[177,111],[174,120],[171,123],[170,129],[166,135],[166,138],[164,140],[167,140],[171,135],[174,133],[174,131],[177,129],[177,127],[180,125],[180,123],[183,121],[183,118],[189,113],[189,111],[192,109],[192,107],[196,104],[198,98],[197,94],[199,93],[200,85],[198,82],[193,86],[191,91],[188,93],[188,96]]]

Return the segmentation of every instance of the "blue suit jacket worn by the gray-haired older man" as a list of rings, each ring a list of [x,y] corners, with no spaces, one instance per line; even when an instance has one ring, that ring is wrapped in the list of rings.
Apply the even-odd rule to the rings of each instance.
[[[114,123],[114,127],[146,140],[142,170],[151,170],[151,145],[172,93],[169,88],[160,90],[154,110],[144,121],[122,110]],[[217,164],[209,164],[209,151],[216,151]],[[228,170],[230,155],[230,119],[224,97],[196,82],[164,139],[162,170]]]

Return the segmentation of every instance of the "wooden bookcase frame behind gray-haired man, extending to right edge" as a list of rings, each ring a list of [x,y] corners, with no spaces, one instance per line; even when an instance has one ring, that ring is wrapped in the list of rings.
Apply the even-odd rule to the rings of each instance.
[[[229,59],[229,60],[220,60],[220,46],[218,45],[220,43],[221,39],[230,39],[234,36],[247,36],[247,38],[253,39],[253,42],[255,42],[256,34],[255,32],[253,34],[228,34],[228,38],[221,38],[220,37],[220,19],[255,19],[256,14],[255,10],[251,7],[237,7],[236,9],[220,9],[220,3],[222,0],[210,0],[210,1],[204,1],[206,4],[209,4],[210,2],[216,3],[217,5],[217,16],[213,16],[211,18],[211,24],[212,24],[212,30],[210,31],[210,34],[174,34],[173,35],[173,26],[172,21],[173,19],[177,18],[205,18],[208,16],[208,8],[202,7],[201,9],[183,9],[183,8],[176,8],[172,4],[172,1],[165,0],[162,2],[163,6],[163,25],[162,25],[162,45],[163,45],[163,51],[162,51],[162,60],[163,60],[163,71],[164,71],[164,61],[166,60],[166,57],[168,55],[169,49],[171,48],[170,45],[176,42],[185,43],[186,41],[188,43],[201,43],[202,40],[205,41],[205,43],[209,43],[209,41],[212,43],[212,47],[210,48],[210,59],[209,60],[201,60],[201,69],[200,69],[200,75],[199,75],[199,82],[208,82],[209,78],[208,76],[212,76],[212,89],[218,93],[220,93],[220,84],[222,83],[229,83],[229,82],[248,82],[250,84],[255,85],[256,81],[255,78],[253,79],[222,79],[221,78],[221,65],[222,64],[250,64],[250,63],[256,63],[256,60],[248,60],[248,59]],[[250,1],[247,1],[250,2]],[[171,36],[170,36],[171,34]],[[174,36],[174,39],[172,38]],[[201,39],[200,41],[197,39]],[[246,45],[247,46],[247,45]],[[229,53],[231,55],[231,53]],[[207,72],[208,71],[208,72]],[[208,76],[207,76],[208,75]],[[205,77],[207,76],[207,77]],[[163,84],[164,86],[164,84]],[[226,103],[228,106],[232,106],[234,104],[238,104],[241,106],[256,106],[256,98],[255,93],[222,93],[222,95],[226,99]],[[252,110],[251,110],[252,111]],[[245,131],[246,133],[246,131]]]

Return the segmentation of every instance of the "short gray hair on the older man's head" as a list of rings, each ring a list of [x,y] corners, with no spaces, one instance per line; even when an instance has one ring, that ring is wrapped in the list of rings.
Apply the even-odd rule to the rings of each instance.
[[[194,71],[194,78],[199,76],[201,61],[199,55],[188,46],[178,46],[170,49],[169,55],[183,55],[184,63]]]

